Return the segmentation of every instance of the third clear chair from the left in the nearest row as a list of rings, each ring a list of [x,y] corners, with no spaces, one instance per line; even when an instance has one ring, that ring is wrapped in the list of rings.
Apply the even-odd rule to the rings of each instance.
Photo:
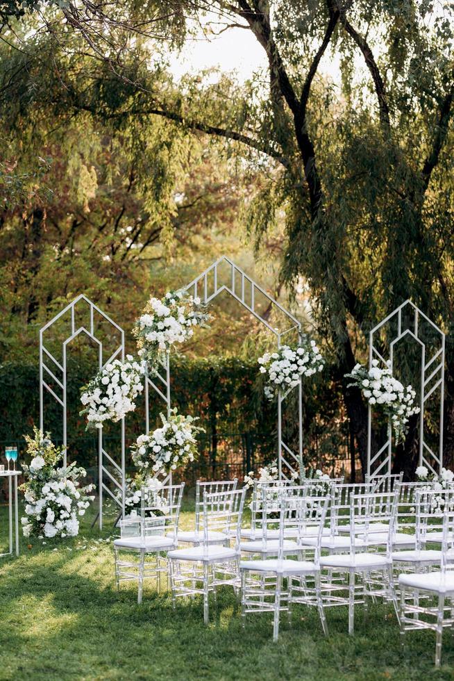
[[[303,492],[303,490],[304,486],[301,486],[300,491]],[[262,491],[263,527],[264,530],[266,527],[273,533],[276,529],[278,530],[278,547],[275,558],[261,557],[256,560],[241,561],[242,618],[244,624],[246,614],[272,612],[274,614],[274,641],[278,639],[280,612],[287,610],[290,618],[294,602],[318,607],[323,632],[328,633],[321,602],[319,550],[315,550],[312,561],[301,560],[298,545],[308,523],[316,523],[319,527],[319,536],[321,536],[329,503],[329,495],[321,497],[304,495],[296,493],[295,488],[281,489],[276,503],[276,500],[270,500],[267,493]],[[276,514],[277,507],[278,514]],[[263,536],[266,544],[266,531]],[[292,552],[296,558],[289,557],[287,536],[295,538]],[[276,539],[271,541],[276,542]],[[265,550],[265,553],[269,554],[269,548]]]

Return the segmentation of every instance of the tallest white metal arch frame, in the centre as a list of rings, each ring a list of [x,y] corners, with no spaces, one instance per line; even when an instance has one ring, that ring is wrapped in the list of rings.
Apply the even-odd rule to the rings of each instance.
[[[224,268],[227,272],[228,283],[222,283],[223,273],[220,271]],[[224,277],[224,279],[226,279]],[[194,298],[199,297],[201,303],[206,305],[219,295],[222,291],[226,291],[235,298],[244,308],[249,311],[256,319],[271,331],[276,337],[277,345],[282,345],[283,336],[294,331],[301,336],[300,322],[287,311],[280,303],[272,298],[261,286],[255,283],[238,265],[235,265],[226,256],[222,256],[215,263],[210,265],[204,272],[199,274],[196,279],[193,279],[190,284],[185,286],[188,293],[191,293]],[[279,311],[287,321],[287,326],[283,330],[273,327],[267,319],[264,319],[258,309],[256,294],[263,296],[272,308]],[[160,369],[153,373],[154,381],[151,377],[146,377],[145,384],[145,402],[146,402],[146,429],[149,431],[149,394],[150,388],[165,402],[167,412],[171,408],[170,397],[170,364],[169,354],[165,357],[160,365]],[[303,391],[301,380],[298,386],[298,404],[299,404],[299,452],[298,456],[292,452],[288,445],[283,440],[282,432],[282,411],[283,402],[287,395],[292,392],[292,388],[286,393],[278,393],[278,470],[279,477],[289,477],[292,473],[299,473],[298,466],[303,457]]]

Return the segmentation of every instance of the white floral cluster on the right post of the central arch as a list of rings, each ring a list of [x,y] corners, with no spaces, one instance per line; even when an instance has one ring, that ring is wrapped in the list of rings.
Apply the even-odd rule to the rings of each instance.
[[[258,363],[260,373],[267,374],[264,394],[273,400],[278,392],[286,393],[297,386],[301,377],[321,371],[324,360],[315,341],[302,336],[298,347],[282,345],[276,352],[265,352]]]

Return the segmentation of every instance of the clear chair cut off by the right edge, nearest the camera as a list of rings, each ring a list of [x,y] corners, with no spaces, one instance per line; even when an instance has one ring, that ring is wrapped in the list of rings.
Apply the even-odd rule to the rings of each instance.
[[[454,626],[454,512],[443,515],[442,561],[440,570],[423,574],[399,575],[401,590],[401,642],[405,632],[428,629],[435,631],[435,666],[442,662],[444,627]],[[423,597],[423,598],[421,598]],[[429,597],[429,598],[427,598]]]

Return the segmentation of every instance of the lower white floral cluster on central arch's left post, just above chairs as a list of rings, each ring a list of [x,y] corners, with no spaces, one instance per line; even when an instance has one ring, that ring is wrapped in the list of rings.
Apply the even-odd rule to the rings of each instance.
[[[144,473],[160,475],[186,466],[197,455],[196,434],[204,432],[196,426],[197,418],[182,416],[171,409],[169,418],[160,414],[162,427],[152,433],[140,435],[131,448],[137,468]]]

